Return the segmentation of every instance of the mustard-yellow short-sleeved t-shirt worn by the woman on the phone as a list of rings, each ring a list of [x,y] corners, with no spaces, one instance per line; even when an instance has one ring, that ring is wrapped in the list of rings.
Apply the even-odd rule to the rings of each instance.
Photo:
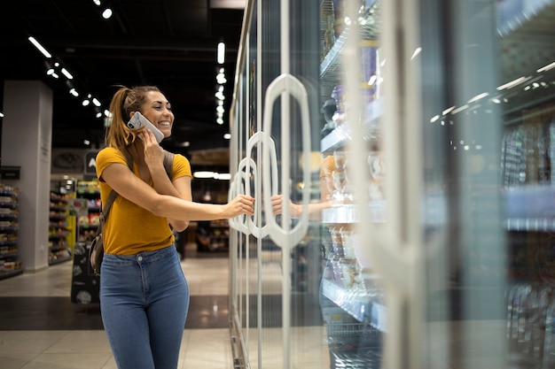
[[[96,158],[97,177],[100,185],[100,199],[106,204],[112,188],[102,180],[103,171],[112,164],[127,166],[120,150],[107,147],[98,152]],[[183,155],[174,156],[172,178],[191,176],[191,165]],[[137,165],[133,173],[139,176]],[[153,182],[148,183],[153,187]],[[168,219],[158,217],[122,196],[117,196],[108,213],[103,230],[104,250],[113,255],[135,255],[143,251],[160,250],[174,242],[174,234]]]

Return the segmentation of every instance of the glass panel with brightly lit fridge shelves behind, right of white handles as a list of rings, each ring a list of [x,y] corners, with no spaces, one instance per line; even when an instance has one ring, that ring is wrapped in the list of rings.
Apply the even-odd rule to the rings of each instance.
[[[321,5],[318,174],[325,206],[320,305],[332,368],[379,368],[382,357],[383,288],[368,252],[371,241],[358,232],[366,201],[371,221],[383,221],[381,21],[377,1],[324,0]],[[362,150],[351,146],[354,138]],[[366,180],[356,188],[359,174]]]

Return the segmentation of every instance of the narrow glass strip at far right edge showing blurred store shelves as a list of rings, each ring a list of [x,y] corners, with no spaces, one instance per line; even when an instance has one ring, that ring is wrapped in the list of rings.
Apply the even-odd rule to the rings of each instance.
[[[553,21],[552,1],[513,0],[497,6],[501,78],[496,98],[503,112],[501,168],[509,267],[506,336],[515,368],[555,365]]]

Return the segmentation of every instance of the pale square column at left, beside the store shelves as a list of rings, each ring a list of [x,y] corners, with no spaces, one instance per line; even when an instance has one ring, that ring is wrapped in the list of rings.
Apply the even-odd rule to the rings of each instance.
[[[40,81],[4,81],[2,165],[21,167],[19,258],[26,271],[48,267],[52,91]]]

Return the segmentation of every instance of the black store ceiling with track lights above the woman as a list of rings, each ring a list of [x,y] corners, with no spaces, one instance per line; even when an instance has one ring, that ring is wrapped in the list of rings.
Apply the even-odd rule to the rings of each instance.
[[[0,81],[43,81],[53,91],[52,147],[102,145],[103,120],[94,106],[70,96],[66,78],[46,75],[46,58],[28,42],[32,35],[73,74],[74,87],[98,97],[106,109],[114,85],[158,86],[173,105],[172,137],[162,145],[188,152],[228,147],[224,124],[215,123],[217,43],[226,43],[225,108],[229,111],[244,1],[111,0],[103,19],[93,0],[0,2]],[[239,4],[239,6],[237,6]],[[224,8],[226,6],[227,8]],[[234,8],[229,8],[229,6]],[[4,101],[4,87],[0,94]],[[4,109],[4,107],[3,107]],[[2,110],[0,110],[2,111]],[[190,142],[184,147],[183,142]]]

